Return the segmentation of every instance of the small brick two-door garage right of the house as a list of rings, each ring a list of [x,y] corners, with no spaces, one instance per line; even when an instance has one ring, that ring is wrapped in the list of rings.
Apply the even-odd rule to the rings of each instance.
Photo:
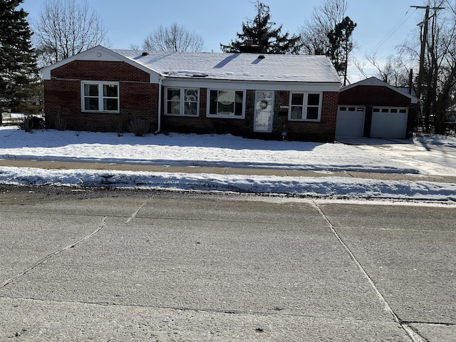
[[[371,77],[341,88],[336,136],[410,137],[418,98]]]

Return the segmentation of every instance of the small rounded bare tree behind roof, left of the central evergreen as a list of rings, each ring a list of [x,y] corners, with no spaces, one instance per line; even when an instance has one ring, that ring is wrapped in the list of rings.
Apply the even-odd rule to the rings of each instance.
[[[172,24],[170,27],[160,25],[144,40],[142,48],[147,51],[202,51],[204,41],[197,33],[190,33],[184,27]]]

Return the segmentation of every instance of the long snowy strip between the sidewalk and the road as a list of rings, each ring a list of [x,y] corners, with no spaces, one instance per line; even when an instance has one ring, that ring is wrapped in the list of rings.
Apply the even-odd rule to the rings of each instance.
[[[365,180],[346,177],[228,176],[0,167],[0,182],[10,185],[135,187],[157,190],[223,191],[345,199],[413,199],[456,202],[455,184]]]

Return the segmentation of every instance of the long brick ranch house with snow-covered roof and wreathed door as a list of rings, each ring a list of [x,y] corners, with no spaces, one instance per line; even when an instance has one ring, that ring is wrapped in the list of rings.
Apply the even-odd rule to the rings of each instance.
[[[333,141],[340,78],[326,56],[96,46],[44,68],[46,125]]]

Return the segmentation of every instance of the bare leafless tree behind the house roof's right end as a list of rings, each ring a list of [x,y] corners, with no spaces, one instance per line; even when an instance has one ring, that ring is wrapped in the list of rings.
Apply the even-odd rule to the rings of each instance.
[[[324,0],[314,9],[311,20],[306,20],[299,30],[301,52],[308,55],[324,55],[331,46],[328,34],[346,16],[347,0]]]

